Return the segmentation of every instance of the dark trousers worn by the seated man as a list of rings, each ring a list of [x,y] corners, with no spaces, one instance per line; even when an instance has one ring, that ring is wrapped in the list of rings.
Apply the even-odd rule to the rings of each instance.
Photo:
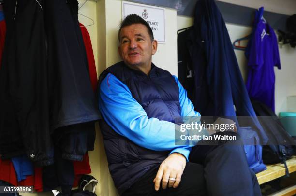
[[[219,133],[238,135],[235,133]],[[207,143],[206,143],[207,142]],[[153,179],[158,167],[149,170],[123,196],[261,196],[255,173],[248,167],[241,140],[200,141],[177,188],[155,191]]]

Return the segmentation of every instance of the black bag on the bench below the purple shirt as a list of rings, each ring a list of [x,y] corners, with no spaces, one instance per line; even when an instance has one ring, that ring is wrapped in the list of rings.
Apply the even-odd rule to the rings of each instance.
[[[296,140],[291,137],[281,124],[280,119],[265,104],[252,101],[252,105],[269,139],[267,145],[263,146],[263,162],[265,164],[283,163],[286,168],[286,176],[289,176],[286,160],[296,153]]]

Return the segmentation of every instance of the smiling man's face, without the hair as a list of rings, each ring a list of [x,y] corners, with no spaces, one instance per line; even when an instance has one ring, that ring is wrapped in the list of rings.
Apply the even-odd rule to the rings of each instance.
[[[142,24],[133,24],[121,29],[118,52],[128,66],[151,66],[152,55],[157,50],[157,41],[151,41],[148,29]]]

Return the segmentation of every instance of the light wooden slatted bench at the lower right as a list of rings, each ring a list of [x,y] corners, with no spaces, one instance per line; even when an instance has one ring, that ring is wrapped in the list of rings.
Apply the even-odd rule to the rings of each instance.
[[[287,160],[286,162],[289,169],[289,173],[296,171],[296,156],[293,156],[291,159]],[[286,175],[286,168],[284,164],[281,164],[281,163],[267,165],[267,169],[265,171],[261,171],[260,173],[256,174],[259,184],[272,181],[284,175]],[[294,186],[285,188],[272,195],[273,196],[293,196],[294,194],[296,194],[296,182]]]

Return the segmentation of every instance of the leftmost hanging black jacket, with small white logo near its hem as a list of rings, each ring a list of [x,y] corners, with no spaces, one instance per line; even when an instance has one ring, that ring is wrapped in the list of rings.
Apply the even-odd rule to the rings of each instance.
[[[43,1],[39,3],[4,1],[9,36],[0,72],[0,153],[9,158],[26,152],[52,163]]]

